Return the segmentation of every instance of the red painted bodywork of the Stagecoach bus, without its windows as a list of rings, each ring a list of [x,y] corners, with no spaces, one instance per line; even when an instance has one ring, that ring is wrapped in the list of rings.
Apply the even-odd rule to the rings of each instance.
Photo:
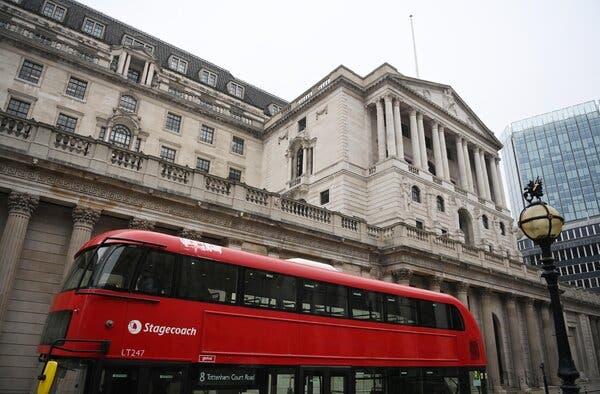
[[[81,289],[58,294],[50,310],[73,311],[68,339],[110,341],[108,353],[81,353],[80,357],[267,365],[484,367],[486,364],[475,320],[462,303],[449,295],[139,230],[103,234],[82,250],[98,245],[107,236],[153,242],[173,253],[453,304],[463,316],[465,330]],[[145,332],[146,328],[150,332]],[[478,351],[473,352],[473,342]],[[97,344],[76,342],[64,346],[79,350],[98,348]],[[49,346],[41,345],[39,351],[47,354]],[[52,354],[75,356],[59,349]]]

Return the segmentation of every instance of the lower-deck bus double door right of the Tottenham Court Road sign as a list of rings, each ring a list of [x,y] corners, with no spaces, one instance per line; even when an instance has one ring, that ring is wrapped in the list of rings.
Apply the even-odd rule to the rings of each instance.
[[[350,368],[301,367],[301,394],[350,393]]]

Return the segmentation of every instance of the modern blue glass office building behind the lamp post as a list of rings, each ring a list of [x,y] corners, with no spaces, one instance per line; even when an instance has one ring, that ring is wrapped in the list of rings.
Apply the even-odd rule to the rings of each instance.
[[[538,176],[544,201],[567,221],[553,245],[561,281],[600,292],[600,111],[588,101],[511,123],[501,141],[504,179],[515,221],[523,188]],[[525,263],[539,264],[539,248],[519,240]]]

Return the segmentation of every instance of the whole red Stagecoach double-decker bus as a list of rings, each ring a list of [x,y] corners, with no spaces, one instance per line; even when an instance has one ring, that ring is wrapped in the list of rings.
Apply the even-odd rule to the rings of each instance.
[[[482,393],[457,299],[139,230],[78,252],[52,303],[40,393]]]

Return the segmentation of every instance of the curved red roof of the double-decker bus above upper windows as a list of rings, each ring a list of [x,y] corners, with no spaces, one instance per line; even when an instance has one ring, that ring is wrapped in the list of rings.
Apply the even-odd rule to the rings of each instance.
[[[337,283],[349,287],[445,302],[457,305],[461,307],[461,309],[464,307],[456,298],[444,293],[403,286],[376,279],[363,278],[340,271],[326,270],[321,267],[298,264],[293,261],[257,255],[237,249],[230,249],[223,246],[145,230],[113,230],[97,235],[88,241],[78,253],[101,243],[142,243],[149,247],[161,248],[177,254],[197,256],[316,281]]]

